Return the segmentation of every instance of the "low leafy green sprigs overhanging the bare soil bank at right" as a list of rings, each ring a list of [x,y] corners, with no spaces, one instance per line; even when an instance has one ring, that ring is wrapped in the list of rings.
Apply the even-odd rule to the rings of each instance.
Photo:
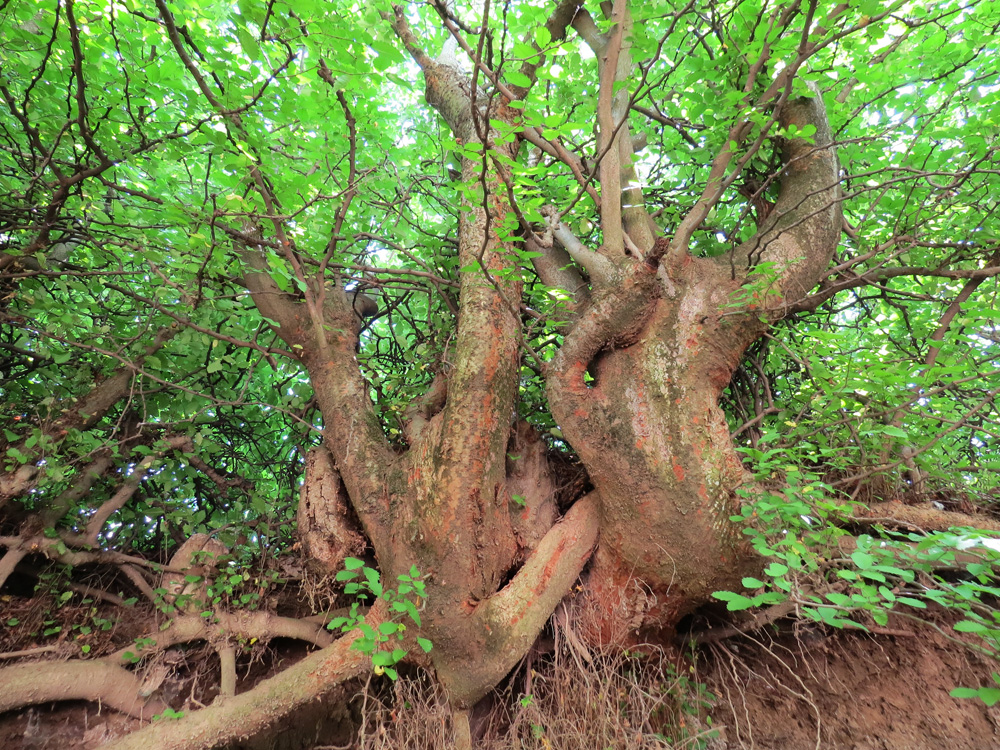
[[[770,467],[766,467],[770,468]],[[948,636],[1000,658],[1000,541],[972,529],[877,535],[844,530],[856,506],[834,497],[815,475],[789,465],[780,494],[747,495],[733,521],[767,562],[762,577],[745,577],[750,592],[717,591],[730,611],[790,603],[799,617],[838,629],[886,627],[890,617],[939,632],[942,618],[968,637]],[[933,609],[929,609],[933,608]],[[947,633],[945,633],[947,635]],[[996,702],[995,688],[960,688],[956,697]]]

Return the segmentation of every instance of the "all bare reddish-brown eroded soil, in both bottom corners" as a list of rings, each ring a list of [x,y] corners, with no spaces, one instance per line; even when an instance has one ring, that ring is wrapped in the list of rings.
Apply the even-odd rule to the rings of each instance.
[[[711,716],[721,731],[708,748],[1000,748],[1000,704],[987,708],[948,695],[959,685],[988,684],[996,666],[933,628],[906,623],[879,635],[805,629],[777,639],[730,639],[708,649],[699,664],[698,678],[717,697]],[[315,731],[262,747],[343,747],[350,713],[338,706],[325,721],[312,718]],[[95,705],[39,706],[0,715],[0,748],[89,750],[136,726]]]

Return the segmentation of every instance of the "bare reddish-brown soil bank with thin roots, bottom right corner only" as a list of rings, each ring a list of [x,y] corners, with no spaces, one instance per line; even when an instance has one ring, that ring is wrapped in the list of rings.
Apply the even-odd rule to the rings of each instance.
[[[945,626],[942,626],[944,628]],[[997,665],[934,629],[898,635],[810,632],[713,648],[702,678],[718,696],[719,748],[1000,748],[1000,704],[956,699]]]

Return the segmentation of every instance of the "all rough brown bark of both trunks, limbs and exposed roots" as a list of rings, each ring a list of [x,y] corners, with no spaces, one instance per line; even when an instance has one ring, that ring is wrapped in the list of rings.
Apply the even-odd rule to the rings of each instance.
[[[222,107],[197,72],[166,3],[157,0],[157,7],[206,100],[238,131],[239,115]],[[390,445],[371,403],[355,356],[361,319],[353,296],[340,277],[334,275],[331,283],[329,258],[318,271],[303,262],[290,239],[295,233],[285,231],[287,219],[273,209],[267,180],[257,166],[249,168],[274,238],[265,243],[256,230],[239,235],[248,245],[240,248],[246,266],[241,281],[308,373],[324,420],[323,443],[308,456],[299,503],[303,554],[331,573],[346,555],[370,544],[388,588],[412,566],[421,572],[427,594],[421,634],[434,644],[429,658],[459,712],[456,739],[466,743],[466,710],[523,657],[595,548],[581,611],[585,632],[597,642],[626,641],[645,626],[670,627],[712,591],[738,585],[748,556],[729,517],[739,503],[738,490],[749,483],[719,396],[747,346],[828,266],[841,227],[836,158],[822,101],[816,98],[783,106],[781,124],[814,125],[815,144],[785,144],[781,196],[753,240],[725,259],[692,257],[686,240],[701,220],[693,214],[684,241],[656,238],[633,166],[632,102],[628,87],[621,86],[633,74],[631,19],[625,0],[602,8],[609,20],[606,32],[578,0],[558,3],[546,24],[553,40],[572,24],[597,58],[599,153],[587,167],[592,174],[583,176],[581,157],[575,157],[577,163],[565,156],[584,183],[581,195],[597,203],[593,178],[600,183],[604,244],[597,250],[573,237],[555,218],[556,211],[549,214],[547,230],[539,230],[555,237],[554,243],[535,235],[528,220],[520,227],[513,220],[521,217],[511,205],[514,182],[506,165],[519,152],[519,136],[511,134],[523,115],[509,106],[518,95],[516,87],[504,86],[500,74],[481,62],[482,54],[469,49],[477,66],[471,76],[434,60],[409,29],[403,8],[386,16],[422,69],[427,103],[460,146],[476,147],[463,150],[461,165],[470,189],[461,193],[458,222],[458,328],[448,362],[425,398],[418,399],[419,408],[408,414],[408,449]],[[440,10],[447,15],[443,5]],[[451,30],[457,43],[467,44],[460,30]],[[529,81],[537,64],[522,67]],[[550,146],[556,154],[565,151]],[[596,491],[577,500],[558,521],[546,446],[527,425],[515,424],[523,291],[520,273],[511,272],[521,263],[515,230],[527,237],[528,247],[540,248],[539,276],[573,295],[562,346],[546,371],[549,405]],[[571,260],[575,266],[570,267]],[[767,271],[754,273],[761,263],[769,264]],[[279,265],[283,276],[294,277],[295,294],[282,292],[275,282],[272,274]],[[164,329],[146,354],[162,346],[174,329]],[[133,369],[122,368],[95,386],[78,407],[53,417],[46,437],[58,440],[69,429],[97,424],[128,395],[132,376]],[[152,460],[139,468],[145,471]],[[96,459],[93,468],[101,469]],[[0,477],[0,504],[28,491],[38,472],[38,461],[32,461]],[[91,543],[142,476],[137,471],[116,495],[120,502],[94,515]],[[77,490],[87,487],[82,481]],[[64,510],[52,511],[49,520],[58,520],[65,507],[58,505]],[[7,557],[0,560],[0,583],[27,553],[25,544],[8,545]],[[181,614],[160,634],[157,646],[211,637],[223,663],[221,699],[183,722],[148,727],[114,747],[231,744],[273,730],[283,717],[328,698],[338,684],[368,666],[368,658],[352,649],[354,633],[235,695],[230,637],[256,628],[325,645],[327,635],[313,625],[264,613],[219,613],[210,623],[196,618],[208,606],[213,560],[226,552],[221,543],[198,534],[175,555],[162,588]],[[96,553],[72,554],[79,562]],[[201,579],[189,582],[179,571]],[[369,612],[368,624],[377,626],[384,610],[380,601]],[[121,668],[122,658],[56,665],[66,667],[61,687],[54,680],[45,682],[48,687],[32,687],[31,665],[5,671],[11,687],[0,710],[90,698],[144,715],[136,678]],[[162,708],[158,702],[145,708],[152,707]]]

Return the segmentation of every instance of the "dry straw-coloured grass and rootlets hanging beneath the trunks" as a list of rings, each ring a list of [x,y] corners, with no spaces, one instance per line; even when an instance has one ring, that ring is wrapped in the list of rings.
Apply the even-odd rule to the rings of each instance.
[[[687,669],[687,668],[685,668]],[[713,733],[708,698],[662,653],[582,658],[557,655],[521,670],[506,693],[473,715],[484,750],[704,748]],[[516,686],[516,687],[515,687]],[[366,690],[359,750],[451,748],[451,711],[427,679],[399,680],[389,694]]]

